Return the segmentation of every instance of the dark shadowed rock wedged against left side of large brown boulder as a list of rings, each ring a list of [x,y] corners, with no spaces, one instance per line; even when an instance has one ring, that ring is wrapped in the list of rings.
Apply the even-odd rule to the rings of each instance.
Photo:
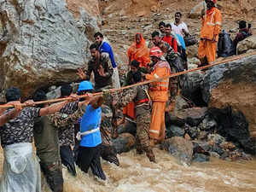
[[[201,71],[188,73],[183,76],[182,95],[194,102],[196,106],[206,106],[201,96],[201,82],[204,78],[204,73]]]

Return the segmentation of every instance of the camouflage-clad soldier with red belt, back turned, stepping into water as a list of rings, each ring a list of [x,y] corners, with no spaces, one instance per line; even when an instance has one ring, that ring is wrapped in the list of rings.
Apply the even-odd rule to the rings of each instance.
[[[132,74],[132,84],[142,81],[142,74],[136,72]],[[129,102],[135,103],[136,124],[137,124],[137,154],[145,152],[148,160],[155,162],[154,153],[149,146],[150,127],[150,97],[148,95],[148,85],[138,85],[131,89],[123,90],[118,94],[119,100],[114,100],[115,108],[125,107]]]

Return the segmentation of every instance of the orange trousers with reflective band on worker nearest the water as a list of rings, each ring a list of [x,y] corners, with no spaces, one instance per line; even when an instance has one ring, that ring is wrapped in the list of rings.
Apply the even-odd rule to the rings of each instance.
[[[153,102],[149,137],[162,142],[166,137],[166,102]]]

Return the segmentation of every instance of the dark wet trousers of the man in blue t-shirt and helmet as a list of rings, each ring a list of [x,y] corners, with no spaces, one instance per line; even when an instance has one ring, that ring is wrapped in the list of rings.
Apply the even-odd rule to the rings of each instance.
[[[79,146],[77,165],[83,172],[87,173],[90,168],[96,177],[102,180],[106,179],[105,173],[102,170],[100,145],[96,147]]]

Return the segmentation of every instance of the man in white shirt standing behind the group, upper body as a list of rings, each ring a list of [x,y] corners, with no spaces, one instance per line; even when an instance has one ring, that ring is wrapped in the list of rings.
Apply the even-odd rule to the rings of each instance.
[[[175,14],[175,21],[172,23],[172,31],[183,37],[184,35],[189,35],[189,29],[188,26],[181,20],[181,18],[182,14],[177,12]]]

